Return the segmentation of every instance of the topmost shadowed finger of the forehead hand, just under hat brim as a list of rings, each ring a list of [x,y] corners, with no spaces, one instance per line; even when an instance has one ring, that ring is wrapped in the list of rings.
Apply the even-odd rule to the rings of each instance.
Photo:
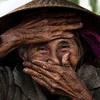
[[[41,17],[39,17],[39,16],[41,16]],[[52,18],[66,18],[66,17],[73,17],[73,16],[75,16],[74,18],[76,18],[76,12],[73,12],[73,11],[67,11],[67,12],[65,12],[65,13],[41,13],[41,15],[39,15],[39,14],[29,14],[29,15],[27,15],[25,18],[24,18],[24,20],[23,20],[23,22],[19,25],[19,27],[27,27],[27,28],[29,28],[31,25],[33,26],[33,24],[35,24],[35,23],[40,23],[40,21],[42,20],[43,21],[43,19],[46,19],[46,18],[50,18],[50,19],[52,19]],[[69,19],[69,18],[68,18]],[[45,21],[44,21],[45,22]],[[53,22],[53,21],[50,21],[50,22]],[[43,24],[43,23],[42,23]],[[41,24],[38,24],[38,25],[41,25]]]

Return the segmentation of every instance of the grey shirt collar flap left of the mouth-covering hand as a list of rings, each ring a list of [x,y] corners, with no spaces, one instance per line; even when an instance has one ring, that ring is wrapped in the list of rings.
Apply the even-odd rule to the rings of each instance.
[[[39,85],[23,72],[22,65],[17,65],[13,71],[14,81],[30,100],[47,100]]]

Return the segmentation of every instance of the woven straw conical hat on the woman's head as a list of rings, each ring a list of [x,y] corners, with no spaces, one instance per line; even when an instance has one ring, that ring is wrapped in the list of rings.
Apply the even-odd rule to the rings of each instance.
[[[100,23],[100,18],[97,14],[80,7],[74,3],[71,3],[68,0],[32,0],[31,2],[13,10],[12,12],[6,14],[5,16],[0,18],[0,34],[5,32],[7,29],[15,26],[20,23],[21,19],[30,11],[39,8],[69,8],[75,9],[81,12],[85,12],[85,14],[89,14],[89,16],[93,16],[94,19],[98,20],[98,24]],[[83,16],[83,15],[82,15]],[[99,25],[100,26],[100,25]],[[98,27],[99,27],[98,26]]]

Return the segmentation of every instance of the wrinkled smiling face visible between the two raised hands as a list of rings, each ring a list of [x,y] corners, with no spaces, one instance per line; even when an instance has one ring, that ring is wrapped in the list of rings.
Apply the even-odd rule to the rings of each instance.
[[[68,66],[74,70],[79,60],[79,51],[73,34],[67,34],[66,38],[51,40],[46,43],[30,45],[27,52],[29,61],[41,60],[51,64],[63,65],[65,59]],[[64,57],[67,54],[67,57]]]

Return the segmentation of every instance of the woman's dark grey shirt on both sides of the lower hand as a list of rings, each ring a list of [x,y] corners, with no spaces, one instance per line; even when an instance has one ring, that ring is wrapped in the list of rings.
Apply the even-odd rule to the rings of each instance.
[[[77,74],[95,99],[100,100],[100,68],[83,65]],[[18,65],[14,70],[8,66],[0,67],[0,100],[49,100],[46,96],[44,90],[23,73],[22,66]],[[51,94],[49,96],[54,97],[50,100],[70,100],[67,97],[55,98]]]

